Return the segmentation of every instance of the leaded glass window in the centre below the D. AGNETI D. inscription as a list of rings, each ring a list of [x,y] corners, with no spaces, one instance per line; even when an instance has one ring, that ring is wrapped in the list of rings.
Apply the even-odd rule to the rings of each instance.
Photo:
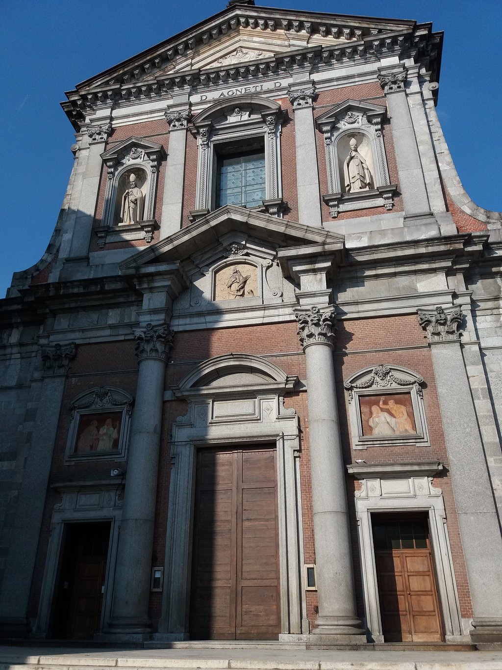
[[[218,157],[216,206],[256,207],[265,194],[264,151],[244,151]]]

